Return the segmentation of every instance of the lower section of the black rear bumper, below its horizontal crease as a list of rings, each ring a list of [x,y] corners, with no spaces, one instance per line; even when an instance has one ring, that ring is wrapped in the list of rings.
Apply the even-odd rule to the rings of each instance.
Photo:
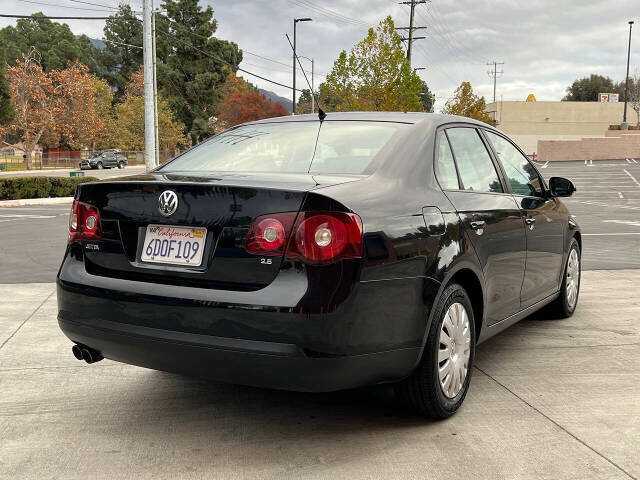
[[[326,392],[399,379],[418,348],[313,358],[291,344],[168,332],[122,324],[58,320],[72,341],[112,360],[217,381],[283,390]]]

